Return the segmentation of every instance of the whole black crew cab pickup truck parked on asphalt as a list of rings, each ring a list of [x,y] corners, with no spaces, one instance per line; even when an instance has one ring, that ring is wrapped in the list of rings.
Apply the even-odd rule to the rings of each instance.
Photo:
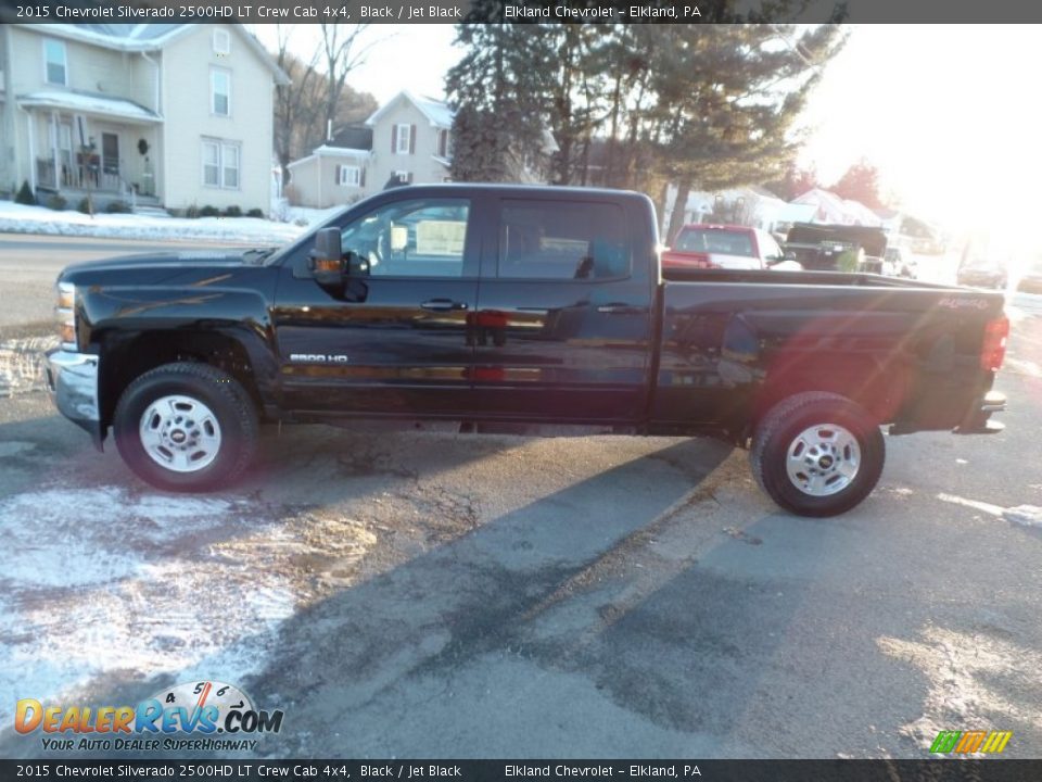
[[[47,379],[99,449],[112,428],[138,476],[178,491],[229,485],[263,422],[569,424],[726,439],[779,505],[829,516],[879,479],[881,425],[1001,428],[1001,295],[663,279],[659,249],[639,193],[397,188],[278,250],[69,266]]]

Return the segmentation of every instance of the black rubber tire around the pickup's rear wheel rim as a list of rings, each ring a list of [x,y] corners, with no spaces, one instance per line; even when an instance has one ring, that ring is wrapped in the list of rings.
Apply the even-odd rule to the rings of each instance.
[[[842,427],[856,440],[861,452],[853,478],[849,478],[843,488],[826,495],[815,495],[799,488],[787,469],[789,449],[796,445],[802,432],[818,425],[823,431],[828,428],[824,425]],[[749,452],[752,472],[760,488],[786,510],[814,517],[846,513],[868,496],[879,482],[885,458],[886,445],[878,424],[846,396],[824,391],[795,394],[772,407],[757,427]],[[833,466],[835,461],[828,465]],[[812,467],[819,467],[819,464]]]

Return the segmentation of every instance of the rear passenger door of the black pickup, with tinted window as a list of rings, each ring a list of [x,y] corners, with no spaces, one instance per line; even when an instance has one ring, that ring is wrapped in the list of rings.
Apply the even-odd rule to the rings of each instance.
[[[650,371],[646,279],[627,211],[610,199],[500,198],[486,228],[474,400],[490,417],[626,422]]]

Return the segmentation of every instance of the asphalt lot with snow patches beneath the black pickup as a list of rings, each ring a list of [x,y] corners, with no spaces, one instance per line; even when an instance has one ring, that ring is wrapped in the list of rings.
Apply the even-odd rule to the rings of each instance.
[[[661,438],[288,428],[175,496],[0,400],[0,726],[207,679],[284,710],[254,757],[1039,757],[1042,298],[1011,304],[1006,431],[887,438],[825,520]]]

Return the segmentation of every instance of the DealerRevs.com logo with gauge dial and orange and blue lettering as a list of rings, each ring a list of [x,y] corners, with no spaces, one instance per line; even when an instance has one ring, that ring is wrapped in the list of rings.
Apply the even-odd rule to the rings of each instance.
[[[233,684],[189,682],[137,706],[45,706],[21,698],[14,729],[39,733],[43,749],[131,752],[254,749],[253,737],[278,733],[282,711],[264,711]]]

